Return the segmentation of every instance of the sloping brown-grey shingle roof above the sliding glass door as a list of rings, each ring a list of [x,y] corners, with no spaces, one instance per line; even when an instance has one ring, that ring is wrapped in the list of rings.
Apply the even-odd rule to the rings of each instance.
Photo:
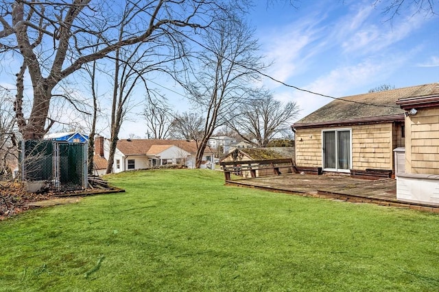
[[[396,105],[396,101],[399,98],[429,96],[431,94],[438,94],[438,92],[439,83],[431,83],[337,98],[302,118],[296,124],[364,120],[401,115],[404,114],[404,110],[399,105]]]

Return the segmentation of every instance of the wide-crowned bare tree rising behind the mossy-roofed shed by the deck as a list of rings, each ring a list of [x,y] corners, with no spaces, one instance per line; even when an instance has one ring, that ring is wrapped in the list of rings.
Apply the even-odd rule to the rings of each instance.
[[[290,131],[299,109],[295,102],[283,104],[265,90],[259,94],[259,98],[241,105],[228,124],[246,142],[267,147],[274,137]]]

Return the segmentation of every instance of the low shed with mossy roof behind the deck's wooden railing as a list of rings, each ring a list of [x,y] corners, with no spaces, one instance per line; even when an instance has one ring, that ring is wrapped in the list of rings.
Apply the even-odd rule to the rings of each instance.
[[[235,148],[221,161],[261,161],[270,159],[292,159],[294,162],[294,147],[269,147],[269,148]],[[252,167],[263,168],[263,163],[254,163]],[[239,167],[238,167],[239,170]],[[257,170],[256,176],[272,174],[272,169]],[[292,170],[289,170],[292,172]],[[239,175],[251,177],[250,172],[240,172]]]

